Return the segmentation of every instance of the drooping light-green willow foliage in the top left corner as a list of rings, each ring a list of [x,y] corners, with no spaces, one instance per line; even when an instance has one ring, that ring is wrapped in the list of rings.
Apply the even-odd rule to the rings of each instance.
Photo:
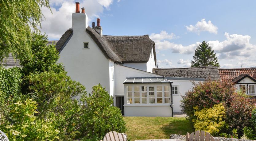
[[[49,1],[0,1],[0,62],[9,53],[20,60],[31,59],[31,27],[37,29],[41,25],[43,6],[50,8]]]

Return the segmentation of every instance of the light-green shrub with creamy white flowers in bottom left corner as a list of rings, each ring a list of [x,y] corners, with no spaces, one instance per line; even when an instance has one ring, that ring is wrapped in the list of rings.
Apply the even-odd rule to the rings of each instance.
[[[18,101],[10,105],[10,123],[1,125],[1,130],[10,140],[54,140],[58,139],[59,130],[48,119],[38,119],[34,114],[37,104],[32,99]]]

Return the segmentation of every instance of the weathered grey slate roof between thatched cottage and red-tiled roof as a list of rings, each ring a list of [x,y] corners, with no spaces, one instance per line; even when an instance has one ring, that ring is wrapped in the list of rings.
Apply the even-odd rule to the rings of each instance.
[[[153,68],[152,72],[165,77],[220,79],[218,67]]]

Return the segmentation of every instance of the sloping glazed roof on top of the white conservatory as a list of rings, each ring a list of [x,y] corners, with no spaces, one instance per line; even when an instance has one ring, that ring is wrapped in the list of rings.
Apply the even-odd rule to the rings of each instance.
[[[164,77],[129,77],[124,84],[128,83],[173,83]]]

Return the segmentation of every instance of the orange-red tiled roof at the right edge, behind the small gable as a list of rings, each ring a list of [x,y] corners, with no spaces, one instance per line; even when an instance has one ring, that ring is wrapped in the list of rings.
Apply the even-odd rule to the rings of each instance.
[[[241,74],[249,74],[256,79],[256,68],[219,69],[219,75],[222,81],[233,81]]]

